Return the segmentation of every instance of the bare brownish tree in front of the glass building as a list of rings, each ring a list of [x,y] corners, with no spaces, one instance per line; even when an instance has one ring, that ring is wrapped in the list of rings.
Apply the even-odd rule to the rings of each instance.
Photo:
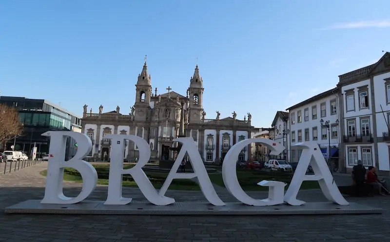
[[[22,132],[23,125],[19,120],[18,110],[0,104],[0,144],[5,146],[7,141],[19,137]]]

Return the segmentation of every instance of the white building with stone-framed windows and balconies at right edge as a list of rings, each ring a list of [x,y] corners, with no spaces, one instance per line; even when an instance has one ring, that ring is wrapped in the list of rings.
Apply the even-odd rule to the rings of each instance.
[[[390,173],[390,53],[376,63],[339,76],[340,157],[347,171],[357,160]]]

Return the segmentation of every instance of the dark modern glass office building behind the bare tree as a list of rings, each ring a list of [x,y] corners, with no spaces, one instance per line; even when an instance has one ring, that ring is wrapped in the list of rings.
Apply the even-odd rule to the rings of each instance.
[[[74,126],[81,128],[81,117],[47,100],[2,96],[0,103],[15,107],[24,126],[20,137],[6,143],[7,150],[11,150],[15,142],[15,150],[30,154],[36,144],[37,156],[40,157],[49,152],[49,138],[41,136],[42,133],[53,130],[73,131]]]

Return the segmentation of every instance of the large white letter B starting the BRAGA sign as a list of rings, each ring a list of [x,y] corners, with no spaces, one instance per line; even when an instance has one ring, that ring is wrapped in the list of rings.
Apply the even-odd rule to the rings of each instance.
[[[48,131],[42,136],[50,137],[50,146],[45,196],[40,203],[73,204],[83,201],[95,190],[98,183],[98,173],[95,168],[82,160],[91,152],[91,139],[85,134],[71,131]],[[67,137],[72,137],[78,143],[76,155],[69,161],[65,161]],[[82,177],[82,189],[76,198],[69,198],[63,194],[64,167],[76,169]]]

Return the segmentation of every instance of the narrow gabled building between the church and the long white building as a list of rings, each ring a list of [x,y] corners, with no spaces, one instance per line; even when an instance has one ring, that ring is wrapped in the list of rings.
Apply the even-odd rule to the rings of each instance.
[[[289,157],[289,146],[287,146],[287,141],[290,139],[289,129],[288,129],[289,113],[283,111],[277,111],[275,118],[273,118],[272,128],[273,128],[273,140],[283,144],[286,149],[279,156],[276,156],[275,159],[287,160]]]

